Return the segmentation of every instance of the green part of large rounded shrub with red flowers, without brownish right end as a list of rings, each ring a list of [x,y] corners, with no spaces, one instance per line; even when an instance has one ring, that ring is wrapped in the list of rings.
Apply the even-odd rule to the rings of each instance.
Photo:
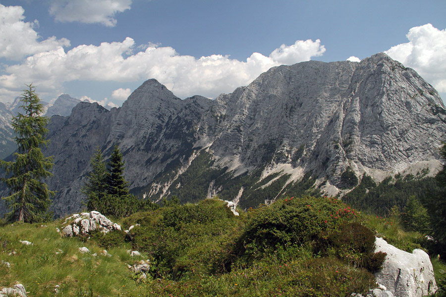
[[[239,257],[239,262],[249,265],[278,247],[304,245],[318,239],[323,231],[359,220],[356,210],[334,198],[280,199],[269,207],[250,212],[250,219],[231,253],[232,259]]]

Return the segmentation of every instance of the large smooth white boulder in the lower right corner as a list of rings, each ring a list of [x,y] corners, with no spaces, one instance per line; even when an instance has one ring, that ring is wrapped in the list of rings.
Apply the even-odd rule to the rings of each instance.
[[[387,253],[383,268],[375,274],[378,284],[395,297],[422,297],[433,294],[438,287],[429,255],[414,249],[412,253],[376,239],[376,250]]]

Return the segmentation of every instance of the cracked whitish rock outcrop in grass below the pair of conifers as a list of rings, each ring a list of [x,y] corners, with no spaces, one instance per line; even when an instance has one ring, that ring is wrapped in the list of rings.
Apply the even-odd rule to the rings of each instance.
[[[62,236],[64,237],[85,236],[97,229],[104,233],[112,230],[121,230],[120,225],[111,222],[111,220],[99,211],[73,214],[65,219],[65,223],[67,222],[69,222],[68,225],[62,229]]]

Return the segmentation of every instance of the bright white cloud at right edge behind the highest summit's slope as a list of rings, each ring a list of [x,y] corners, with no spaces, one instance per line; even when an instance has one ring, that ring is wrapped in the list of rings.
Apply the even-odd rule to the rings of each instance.
[[[446,92],[446,29],[426,24],[411,28],[406,37],[408,43],[391,47],[385,53],[415,69],[437,91]]]

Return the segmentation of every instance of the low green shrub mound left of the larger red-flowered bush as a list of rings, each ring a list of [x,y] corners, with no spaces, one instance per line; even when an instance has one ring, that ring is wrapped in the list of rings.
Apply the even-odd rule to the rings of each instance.
[[[131,244],[151,255],[157,263],[156,276],[180,279],[191,273],[209,274],[239,228],[223,203],[216,199],[172,203],[156,213],[146,213],[143,219],[130,216],[124,224],[140,224],[129,232]]]

